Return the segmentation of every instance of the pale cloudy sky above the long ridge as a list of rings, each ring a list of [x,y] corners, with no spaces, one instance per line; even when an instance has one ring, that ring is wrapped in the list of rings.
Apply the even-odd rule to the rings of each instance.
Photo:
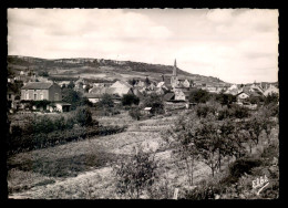
[[[278,81],[278,10],[8,9],[8,54],[173,65],[229,83]]]

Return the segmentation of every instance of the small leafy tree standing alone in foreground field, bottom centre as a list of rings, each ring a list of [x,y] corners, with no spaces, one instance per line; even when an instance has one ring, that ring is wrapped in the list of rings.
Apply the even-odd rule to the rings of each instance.
[[[113,170],[117,177],[117,194],[138,199],[144,190],[148,190],[157,178],[155,154],[144,153],[141,147],[132,157],[122,160]]]

